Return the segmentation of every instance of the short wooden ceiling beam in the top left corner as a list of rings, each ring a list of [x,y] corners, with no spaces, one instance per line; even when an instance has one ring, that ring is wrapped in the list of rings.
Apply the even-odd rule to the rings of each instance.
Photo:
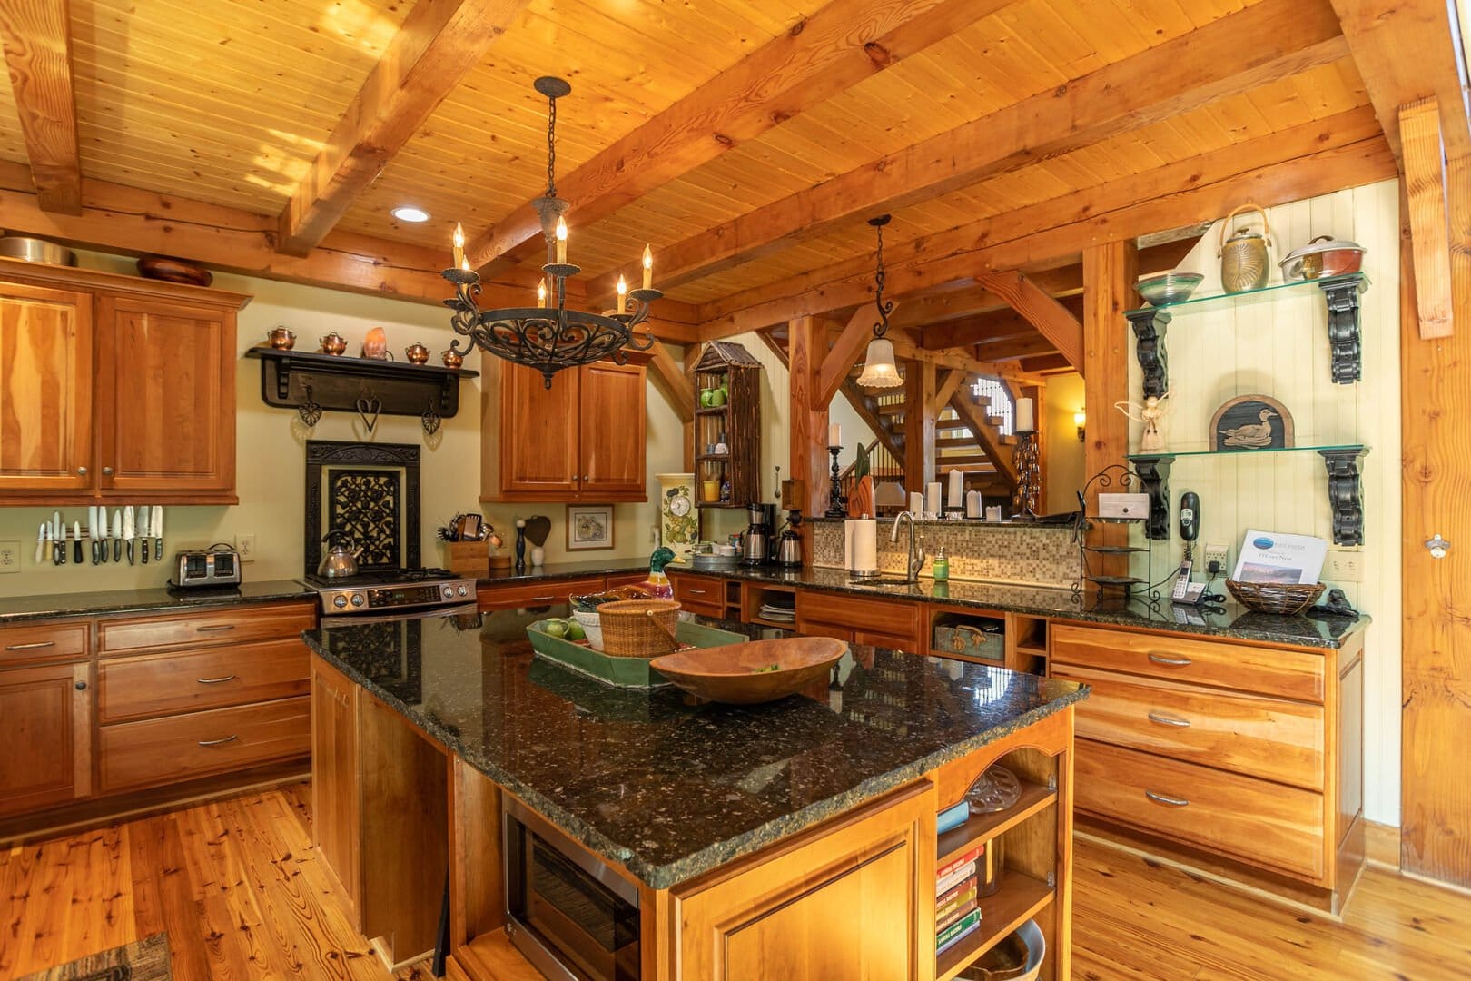
[[[69,0],[0,3],[0,41],[41,210],[82,213]]]

